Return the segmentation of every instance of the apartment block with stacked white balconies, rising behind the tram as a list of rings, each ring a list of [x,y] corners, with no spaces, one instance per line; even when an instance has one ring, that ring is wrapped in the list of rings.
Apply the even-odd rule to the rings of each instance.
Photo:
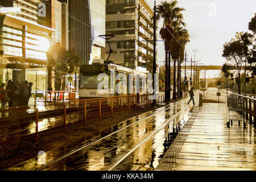
[[[106,0],[106,34],[115,35],[110,39],[113,49],[110,60],[146,71],[146,59],[153,59],[153,15],[152,8],[144,0]],[[109,46],[104,53],[106,59]]]

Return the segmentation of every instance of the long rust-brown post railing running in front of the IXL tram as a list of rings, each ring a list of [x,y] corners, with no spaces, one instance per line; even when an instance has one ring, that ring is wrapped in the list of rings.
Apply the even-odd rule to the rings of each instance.
[[[86,126],[89,119],[98,118],[101,121],[104,115],[113,117],[117,111],[122,113],[123,110],[147,108],[153,101],[150,97],[152,94],[75,100],[74,105],[65,102],[45,105],[46,110],[42,110],[40,105],[29,109],[28,106],[5,107],[0,109],[1,113],[9,115],[0,119],[0,143],[33,136],[38,142],[39,133],[59,128],[66,131],[69,125],[82,122]],[[163,101],[164,97],[159,96],[156,103],[162,104]]]

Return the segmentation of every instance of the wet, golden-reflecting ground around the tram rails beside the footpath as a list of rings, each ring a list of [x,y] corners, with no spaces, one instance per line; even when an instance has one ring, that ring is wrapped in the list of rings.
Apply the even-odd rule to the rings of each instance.
[[[143,143],[142,146],[132,154],[136,156],[136,159],[142,160],[141,165],[138,165],[137,160],[134,160],[134,163],[131,163],[129,167],[125,165],[126,169],[141,168],[144,163],[147,163],[148,159],[151,158],[152,153],[155,152],[156,154],[162,155],[164,150],[167,149],[167,147],[163,147],[163,145],[166,146],[166,136],[173,133],[173,129],[178,122],[180,122],[181,127],[188,118],[189,110],[192,106],[189,106],[187,102],[188,98],[176,104],[171,103],[168,106],[160,107],[154,111],[156,114],[152,113],[152,111],[151,113],[141,114],[119,123],[114,129],[114,134],[108,136],[108,133],[106,133],[105,135],[107,136],[103,139],[99,139],[98,136],[95,136],[90,140],[86,140],[76,147],[82,147],[81,150],[46,168],[44,168],[44,164],[52,162],[60,158],[61,155],[67,154],[67,152],[71,152],[76,148],[59,148],[48,151],[36,158],[11,167],[9,170],[108,170],[119,163],[123,156],[137,147],[139,143],[154,134],[160,127],[164,126],[163,129],[152,135],[146,143]],[[181,113],[178,115],[177,113],[180,111]],[[174,115],[177,115],[177,118],[169,121]],[[112,131],[109,131],[109,134],[110,133],[112,133]],[[98,141],[93,143],[93,141],[97,139]],[[147,150],[147,148],[151,148],[152,150]],[[145,150],[148,155],[144,154]],[[129,159],[129,157],[127,159]],[[159,159],[155,159],[153,168],[157,166],[158,160]],[[124,162],[126,161],[127,160],[124,160]],[[120,163],[114,170],[125,170],[125,168],[122,167],[124,162]]]

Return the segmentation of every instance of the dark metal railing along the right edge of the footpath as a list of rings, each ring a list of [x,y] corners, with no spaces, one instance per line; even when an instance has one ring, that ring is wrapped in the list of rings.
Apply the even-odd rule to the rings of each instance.
[[[238,98],[245,98],[245,118],[249,119],[249,122],[254,122],[254,126],[256,126],[256,98],[237,94],[237,93],[231,93],[228,98],[232,99],[238,99]],[[253,121],[254,120],[254,121]]]

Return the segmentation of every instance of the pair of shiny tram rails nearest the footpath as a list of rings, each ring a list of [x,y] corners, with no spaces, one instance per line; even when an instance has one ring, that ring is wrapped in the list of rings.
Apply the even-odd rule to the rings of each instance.
[[[119,129],[119,130],[117,130],[117,131],[114,131],[113,133],[111,133],[111,134],[109,134],[109,135],[106,135],[105,137],[96,139],[96,140],[94,140],[94,141],[92,141],[92,142],[90,142],[90,143],[84,144],[83,146],[81,146],[81,147],[79,147],[79,148],[76,148],[75,150],[72,150],[72,151],[70,151],[70,152],[67,152],[67,154],[62,155],[62,156],[60,156],[59,158],[56,158],[55,160],[52,160],[51,162],[49,162],[49,163],[47,163],[47,164],[44,164],[43,166],[40,166],[40,167],[36,168],[35,170],[36,170],[36,171],[40,171],[40,170],[47,169],[47,168],[53,166],[53,164],[56,164],[56,163],[60,162],[61,160],[67,158],[68,156],[71,156],[71,155],[73,155],[73,154],[76,154],[77,152],[79,152],[79,151],[81,151],[81,150],[83,150],[83,149],[85,149],[85,148],[94,146],[94,145],[96,145],[97,143],[101,142],[102,140],[104,140],[104,139],[106,139],[106,138],[109,138],[109,137],[111,137],[112,135],[117,134],[117,133],[119,133],[119,132],[121,132],[121,131],[127,129],[128,127],[131,127],[131,126],[133,126],[133,125],[135,125],[135,124],[137,124],[137,123],[139,123],[139,122],[142,122],[142,121],[144,121],[145,119],[148,119],[148,118],[150,118],[150,117],[153,118],[154,115],[156,115],[156,114],[162,113],[163,111],[166,111],[166,110],[168,110],[168,109],[172,109],[172,107],[175,107],[175,106],[177,106],[177,105],[179,105],[179,104],[180,104],[180,105],[181,105],[181,104],[184,104],[184,103],[187,102],[187,100],[188,100],[188,98],[185,98],[183,101],[179,101],[179,102],[175,103],[174,105],[171,105],[171,106],[164,106],[164,109],[158,110],[158,111],[156,111],[156,112],[154,112],[154,113],[148,115],[148,116],[145,117],[145,118],[138,119],[137,121],[131,123],[130,125],[127,125],[127,126],[125,126],[125,127],[122,127],[121,129]],[[191,106],[191,105],[186,106],[185,109],[187,109],[189,106]],[[121,160],[118,160],[118,162],[114,164],[114,167],[115,167],[115,166],[118,166],[119,163],[121,163],[121,162],[122,162],[123,160],[125,160],[129,155],[131,155],[132,152],[136,151],[136,150],[139,148],[139,146],[141,146],[144,142],[146,142],[148,139],[150,139],[152,136],[154,136],[156,133],[158,133],[158,131],[162,130],[163,127],[165,127],[170,121],[172,121],[172,119],[176,118],[176,117],[177,117],[182,111],[184,111],[185,109],[181,109],[181,110],[179,110],[179,112],[175,113],[175,115],[174,115],[173,117],[171,117],[170,119],[168,119],[167,122],[164,122],[164,124],[163,124],[159,129],[155,130],[154,133],[151,133],[150,136],[148,136],[146,139],[144,139],[142,142],[140,142],[140,143],[139,143],[137,146],[135,146],[132,150],[130,150]],[[113,169],[114,167],[112,167],[112,168],[110,168],[110,169]]]

